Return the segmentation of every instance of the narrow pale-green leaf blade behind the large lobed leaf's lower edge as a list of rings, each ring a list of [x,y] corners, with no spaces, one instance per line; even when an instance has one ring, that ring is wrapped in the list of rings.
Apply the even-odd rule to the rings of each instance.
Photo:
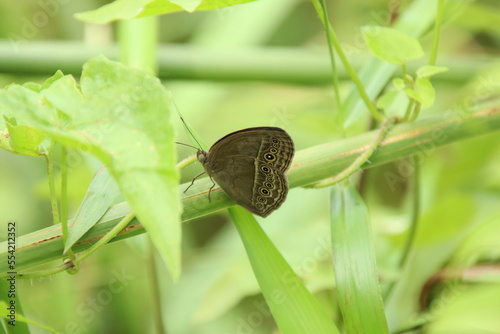
[[[108,169],[104,167],[99,169],[87,189],[73,223],[69,226],[68,239],[64,246],[65,253],[101,219],[119,194],[118,185]]]

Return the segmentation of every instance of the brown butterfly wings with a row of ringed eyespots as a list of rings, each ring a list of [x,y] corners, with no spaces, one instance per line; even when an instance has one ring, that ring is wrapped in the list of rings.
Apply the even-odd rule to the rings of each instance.
[[[249,128],[217,141],[204,168],[236,203],[266,217],[286,199],[285,172],[293,154],[293,141],[282,129]]]

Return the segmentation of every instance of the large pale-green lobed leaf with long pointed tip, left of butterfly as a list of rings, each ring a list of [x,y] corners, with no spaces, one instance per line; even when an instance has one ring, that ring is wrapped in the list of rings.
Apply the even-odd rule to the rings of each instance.
[[[69,85],[62,85],[61,94],[74,93],[74,83],[66,77],[49,88],[59,80]],[[16,115],[19,123],[104,162],[176,279],[180,203],[166,90],[157,78],[102,56],[84,65],[81,90],[83,103],[64,98],[51,103],[48,99],[57,91],[43,96],[43,90],[37,94],[14,85],[0,91],[0,108]],[[68,110],[64,114],[71,117],[74,108],[74,117],[61,121],[61,111]]]

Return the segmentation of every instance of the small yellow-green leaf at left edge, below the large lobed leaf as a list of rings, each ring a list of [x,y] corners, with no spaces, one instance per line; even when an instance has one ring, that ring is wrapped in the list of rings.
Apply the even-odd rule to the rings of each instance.
[[[17,125],[14,118],[7,119],[4,116],[4,121],[9,132],[8,139],[10,148],[12,148],[11,152],[32,157],[38,157],[42,154],[38,148],[45,138],[42,132],[26,125]]]

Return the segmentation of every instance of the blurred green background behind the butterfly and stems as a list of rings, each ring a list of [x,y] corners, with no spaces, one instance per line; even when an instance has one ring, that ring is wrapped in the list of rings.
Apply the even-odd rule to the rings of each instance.
[[[42,62],[29,60],[33,54],[23,51],[27,47],[36,45],[33,50],[52,54],[55,64],[66,66],[68,59],[64,55],[68,51],[85,53],[113,44],[114,25],[84,24],[73,18],[74,13],[103,4],[56,0],[0,2],[0,63],[4,57],[27,57],[26,68],[36,69],[40,65],[39,70],[32,71],[9,67],[4,62],[0,85],[42,82],[58,69],[46,69]],[[397,4],[398,1],[379,0],[328,4],[332,25],[355,65],[361,65],[369,56],[360,27],[386,24],[388,9]],[[405,4],[403,1],[400,5],[404,8]],[[451,21],[443,28],[437,62],[450,67],[450,71],[433,80],[436,103],[421,117],[453,110],[466,97],[487,100],[498,97],[500,92],[499,3],[491,0],[456,4]],[[39,26],[31,29],[29,25],[33,23]],[[27,31],[32,34],[27,36]],[[19,36],[24,37],[18,39]],[[317,52],[324,54],[328,64],[324,30],[311,3],[302,0],[262,0],[211,12],[164,15],[160,17],[159,39],[164,45],[187,48],[186,52],[192,50],[189,47],[214,51],[220,54],[221,61],[227,61],[225,50],[231,54],[252,48],[257,55],[259,50],[280,50],[285,57],[287,50],[290,54]],[[69,44],[75,41],[78,43]],[[425,50],[431,42],[432,36],[421,40]],[[75,45],[76,50],[68,50]],[[160,73],[183,116],[209,144],[231,131],[261,125],[285,128],[298,151],[341,138],[333,123],[333,91],[323,79],[316,83],[237,77],[214,80],[204,79],[202,74],[193,79],[192,73],[186,72],[183,77],[182,71],[171,78],[161,68]],[[343,91],[349,87],[350,82],[341,81]],[[365,116],[348,129],[349,135],[366,131],[369,115]],[[178,141],[189,143],[182,123],[174,123]],[[179,159],[193,153],[192,149],[179,147]],[[73,157],[70,217],[99,167],[88,156],[75,152]],[[491,268],[487,274],[473,270],[465,283],[448,283],[430,293],[433,303],[429,309],[435,318],[424,332],[500,332],[499,165],[498,133],[426,152],[420,178],[420,229],[416,250],[404,273],[394,268],[410,221],[412,166],[404,159],[364,175],[362,194],[376,234],[381,280],[398,281],[391,298],[385,301],[393,330],[415,319],[424,283],[443,265],[474,269],[487,263]],[[182,182],[201,170],[197,164],[189,166],[182,172]],[[400,182],[388,182],[388,172],[400,175]],[[22,235],[52,224],[43,158],[0,151],[0,184],[2,226],[15,220],[18,235]],[[328,191],[292,189],[282,208],[260,222],[307,287],[337,319]],[[3,233],[0,231],[2,240]],[[228,215],[219,212],[186,222],[183,233],[180,282],[172,284],[158,263],[168,333],[278,333]],[[84,263],[78,275],[61,273],[18,281],[25,315],[64,333],[154,332],[147,245],[144,236],[134,237],[106,246]],[[31,328],[33,333],[45,333],[43,329]]]

